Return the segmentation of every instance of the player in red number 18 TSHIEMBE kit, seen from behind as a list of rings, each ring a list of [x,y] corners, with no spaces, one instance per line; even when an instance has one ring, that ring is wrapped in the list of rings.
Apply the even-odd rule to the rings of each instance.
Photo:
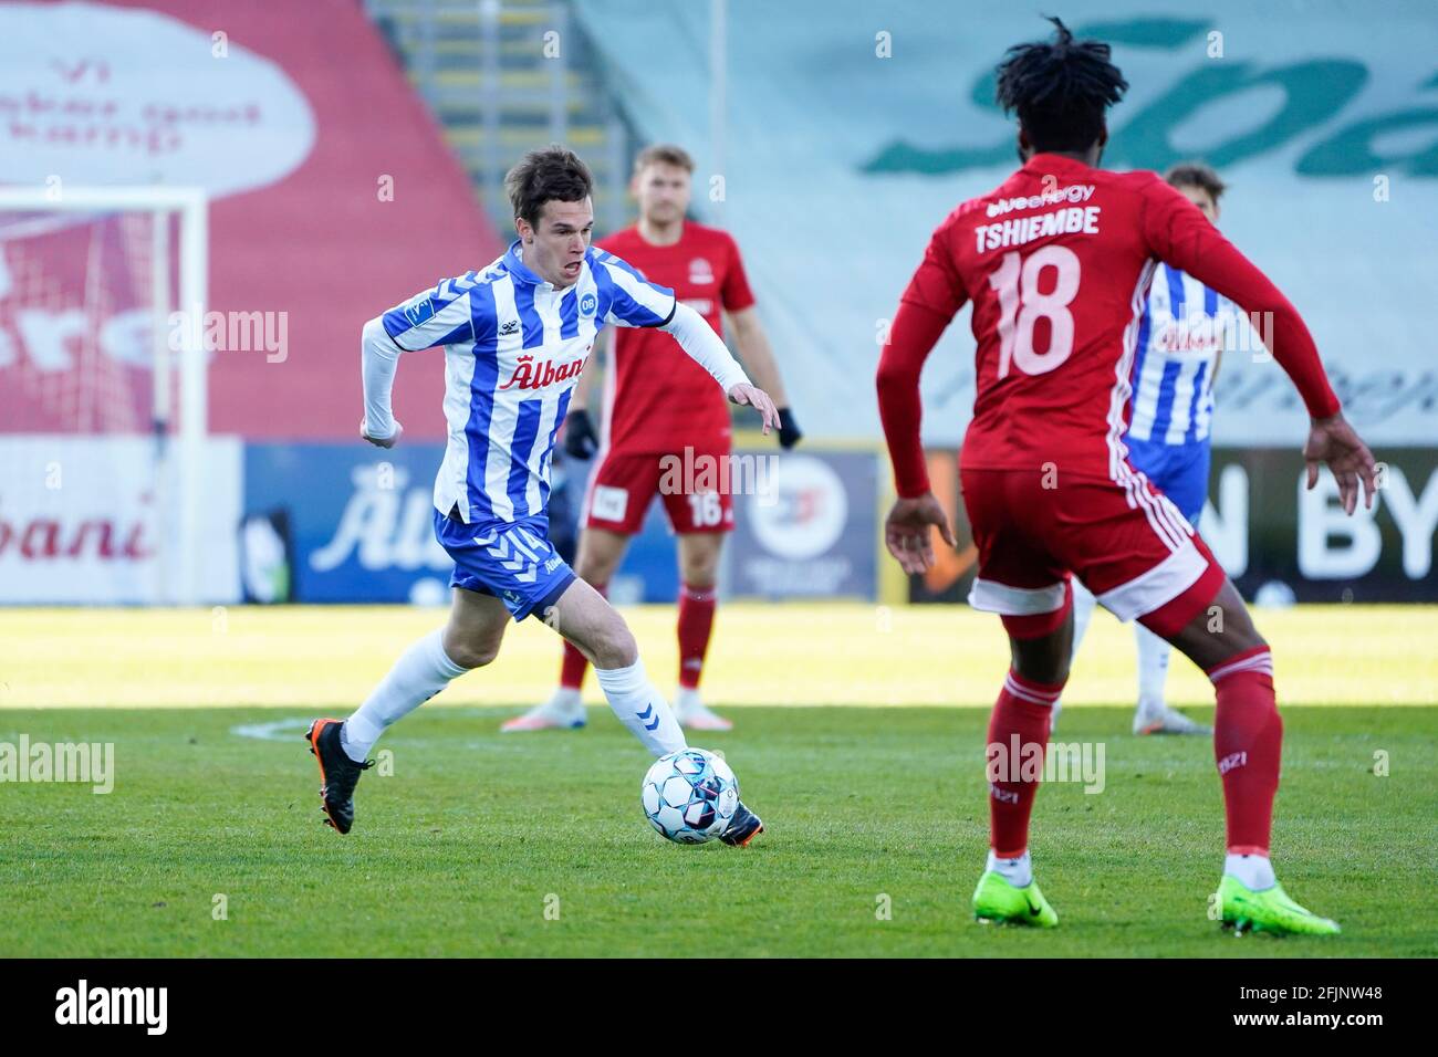
[[[963,437],[963,506],[978,548],[969,604],[1002,617],[1009,670],[988,731],[986,867],[979,920],[1053,928],[1034,882],[1028,821],[1051,710],[1073,653],[1070,575],[1119,620],[1139,620],[1214,683],[1214,756],[1224,788],[1227,857],[1217,902],[1225,925],[1334,933],[1290,899],[1268,861],[1283,720],[1273,659],[1242,597],[1179,509],[1127,459],[1132,367],[1159,262],[1270,319],[1265,341],[1309,410],[1307,483],[1327,465],[1352,513],[1373,456],[1345,421],[1317,348],[1283,293],[1155,173],[1097,168],[1107,108],[1127,82],[1109,46],[1074,40],[1009,49],[998,102],[1018,114],[1022,167],[935,229],[900,299],[879,364],[879,407],[899,499],[886,542],[906,572],[933,564],[932,532],[953,546],[929,489],[919,434],[919,375],[953,315],[974,303],[976,397]],[[1007,755],[1009,745],[1020,752]],[[1015,758],[1017,756],[1017,758]],[[1152,893],[1122,894],[1135,913]]]

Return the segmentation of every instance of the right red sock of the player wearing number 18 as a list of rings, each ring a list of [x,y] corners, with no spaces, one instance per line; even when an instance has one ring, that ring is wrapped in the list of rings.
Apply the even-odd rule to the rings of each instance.
[[[1267,646],[1260,646],[1211,667],[1208,677],[1218,693],[1214,759],[1224,779],[1228,853],[1267,856],[1283,755],[1273,656]]]

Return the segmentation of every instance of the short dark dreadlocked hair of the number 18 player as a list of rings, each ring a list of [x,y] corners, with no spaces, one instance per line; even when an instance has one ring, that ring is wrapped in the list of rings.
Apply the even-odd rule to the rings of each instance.
[[[1109,62],[1109,45],[1074,40],[1068,27],[1048,19],[1058,32],[1051,42],[1015,45],[998,73],[998,105],[1018,111],[1035,151],[1084,151],[1103,135],[1104,111],[1123,98],[1129,82]]]

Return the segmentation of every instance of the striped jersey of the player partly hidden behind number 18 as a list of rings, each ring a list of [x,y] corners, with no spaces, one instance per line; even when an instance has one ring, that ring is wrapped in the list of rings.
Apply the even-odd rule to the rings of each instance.
[[[1229,344],[1237,308],[1176,267],[1159,263],[1139,321],[1133,414],[1126,440],[1206,443],[1214,418],[1214,372]]]

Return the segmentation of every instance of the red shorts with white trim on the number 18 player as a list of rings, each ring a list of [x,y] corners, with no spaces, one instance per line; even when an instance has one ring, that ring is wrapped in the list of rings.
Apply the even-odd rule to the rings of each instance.
[[[1002,616],[1018,639],[1063,623],[1071,605],[1068,574],[1119,620],[1137,618],[1163,637],[1185,627],[1224,585],[1224,569],[1194,526],[1136,473],[1120,485],[965,469],[961,485],[979,552],[969,604]]]

